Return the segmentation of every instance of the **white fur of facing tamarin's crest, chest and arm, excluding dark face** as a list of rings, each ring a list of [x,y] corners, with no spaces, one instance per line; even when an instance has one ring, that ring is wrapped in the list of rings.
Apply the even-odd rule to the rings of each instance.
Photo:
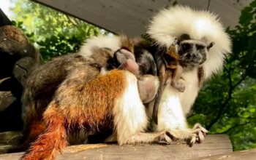
[[[231,42],[225,28],[217,15],[208,11],[181,6],[162,9],[151,20],[147,33],[160,47],[170,47],[182,33],[187,33],[191,39],[206,44],[214,42],[206,62],[201,66],[203,81],[222,69],[225,57],[230,52]],[[197,67],[184,70],[181,77],[185,81],[185,92],[178,92],[170,86],[165,87],[159,104],[157,127],[159,130],[171,129],[173,135],[183,139],[190,138],[194,142],[196,132],[187,128],[186,115],[195,103],[200,89],[198,71]]]

